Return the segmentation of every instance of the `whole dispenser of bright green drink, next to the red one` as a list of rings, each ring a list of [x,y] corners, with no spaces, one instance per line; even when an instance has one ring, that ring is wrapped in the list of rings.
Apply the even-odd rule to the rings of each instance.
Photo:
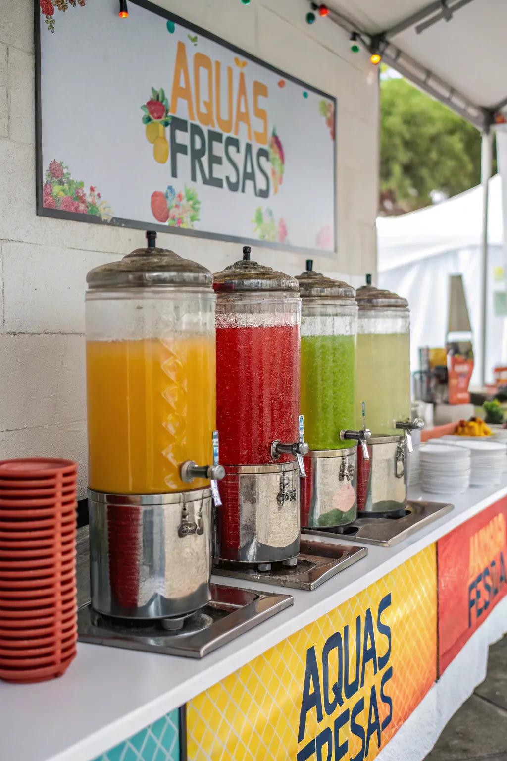
[[[356,519],[357,445],[368,458],[370,431],[356,429],[356,291],[312,271],[299,275],[301,411],[309,456],[301,482],[301,524],[337,528]],[[359,418],[361,419],[361,417]]]

